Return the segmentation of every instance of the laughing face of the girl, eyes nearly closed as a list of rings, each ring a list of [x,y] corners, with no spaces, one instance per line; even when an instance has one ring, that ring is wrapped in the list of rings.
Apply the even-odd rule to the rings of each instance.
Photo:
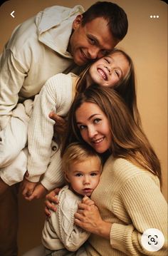
[[[129,63],[122,53],[111,53],[90,66],[87,82],[100,86],[115,86],[129,71]]]

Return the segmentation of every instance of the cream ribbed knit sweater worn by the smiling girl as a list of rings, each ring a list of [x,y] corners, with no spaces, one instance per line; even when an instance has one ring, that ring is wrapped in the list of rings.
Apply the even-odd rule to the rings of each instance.
[[[33,113],[28,125],[28,180],[38,182],[45,173],[41,183],[48,190],[62,185],[64,178],[61,171],[60,150],[55,153],[55,165],[51,161],[51,143],[55,121],[48,113],[54,111],[66,116],[75,96],[75,84],[78,76],[73,73],[59,73],[48,79],[36,97]],[[46,171],[48,168],[48,171]]]

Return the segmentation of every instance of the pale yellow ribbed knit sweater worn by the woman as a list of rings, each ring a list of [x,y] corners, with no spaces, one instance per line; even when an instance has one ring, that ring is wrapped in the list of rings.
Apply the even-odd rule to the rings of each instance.
[[[90,235],[88,255],[167,255],[167,203],[155,175],[125,159],[110,157],[91,198],[112,227],[110,241]],[[142,233],[149,228],[164,234],[164,246],[158,252],[142,247]]]

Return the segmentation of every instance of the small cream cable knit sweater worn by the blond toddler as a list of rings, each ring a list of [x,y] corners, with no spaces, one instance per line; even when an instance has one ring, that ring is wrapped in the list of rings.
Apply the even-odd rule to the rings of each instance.
[[[58,194],[59,204],[51,217],[46,220],[42,232],[43,245],[50,250],[61,250],[66,248],[69,251],[78,250],[88,239],[90,233],[74,225],[74,214],[78,209],[81,200],[68,189],[68,185]]]

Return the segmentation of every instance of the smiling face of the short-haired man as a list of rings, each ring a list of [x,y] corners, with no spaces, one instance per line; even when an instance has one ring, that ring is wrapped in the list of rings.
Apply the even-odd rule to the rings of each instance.
[[[73,21],[69,51],[78,66],[105,56],[117,43],[118,41],[112,37],[107,21],[103,17],[93,19],[85,26],[82,26],[81,15]]]

